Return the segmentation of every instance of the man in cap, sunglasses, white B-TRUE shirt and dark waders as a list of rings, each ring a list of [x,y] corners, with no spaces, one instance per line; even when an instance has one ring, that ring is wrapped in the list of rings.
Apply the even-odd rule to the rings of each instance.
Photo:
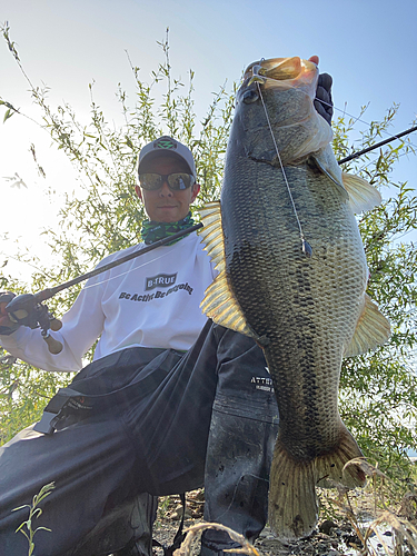
[[[136,191],[149,217],[145,244],[190,227],[199,186],[187,147],[169,137],[152,141],[140,152],[138,171]],[[90,279],[54,332],[63,345],[59,355],[48,351],[39,330],[17,327],[4,310],[11,297],[0,298],[1,345],[34,366],[79,370],[99,338],[93,363],[66,398],[75,404],[54,411],[56,433],[26,429],[0,451],[0,554],[27,554],[26,538],[14,530],[28,509],[11,510],[52,480],[56,488],[33,522],[51,532],[36,534],[34,555],[149,554],[155,500],[137,495],[201,486],[205,464],[205,517],[252,540],[259,535],[277,407],[261,350],[206,324],[199,311],[214,276],[190,234]],[[143,530],[133,526],[133,510],[146,516]],[[123,530],[113,534],[115,523]],[[201,554],[234,546],[208,532]]]

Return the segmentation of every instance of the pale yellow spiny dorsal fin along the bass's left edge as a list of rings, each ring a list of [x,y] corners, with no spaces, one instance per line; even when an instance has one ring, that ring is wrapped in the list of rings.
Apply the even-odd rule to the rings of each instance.
[[[206,289],[206,297],[200,304],[201,310],[218,325],[256,338],[247,325],[227,280],[220,201],[205,205],[200,209],[200,216],[203,228],[198,234],[201,236],[205,250],[211,257],[215,268],[219,270],[218,276]]]

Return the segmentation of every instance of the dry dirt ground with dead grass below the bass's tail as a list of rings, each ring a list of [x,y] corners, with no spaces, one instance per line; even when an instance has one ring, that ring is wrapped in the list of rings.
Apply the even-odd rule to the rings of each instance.
[[[337,498],[337,496],[336,496]],[[326,498],[328,499],[328,498]],[[326,503],[326,500],[325,500]],[[289,555],[317,555],[317,556],[381,556],[393,554],[393,529],[387,524],[378,527],[377,535],[373,533],[367,539],[367,552],[359,536],[366,530],[380,512],[375,507],[374,496],[370,493],[354,493],[347,498],[339,498],[338,504],[344,509],[335,513],[335,507],[329,508],[327,518],[322,518],[312,535],[306,539],[291,544],[280,543],[267,526],[257,539],[255,547],[260,556],[289,556]],[[187,509],[185,530],[202,522],[203,492],[195,490],[187,495]],[[182,507],[179,497],[162,498],[159,504],[158,519],[153,537],[165,546],[172,544],[178,530],[179,520],[182,515]],[[330,517],[331,516],[331,517]],[[350,517],[350,518],[349,518]],[[357,527],[359,524],[359,527]],[[363,537],[364,538],[364,537]],[[411,556],[417,554],[406,542],[403,544],[403,552],[396,554]],[[385,545],[385,546],[384,546]],[[160,548],[155,549],[156,556],[161,556]],[[189,556],[199,555],[199,536],[192,543]]]

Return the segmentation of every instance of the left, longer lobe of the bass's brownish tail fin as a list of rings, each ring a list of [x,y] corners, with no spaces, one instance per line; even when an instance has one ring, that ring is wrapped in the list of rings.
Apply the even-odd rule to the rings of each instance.
[[[318,518],[315,460],[296,461],[277,440],[269,479],[268,522],[282,540],[307,537]]]

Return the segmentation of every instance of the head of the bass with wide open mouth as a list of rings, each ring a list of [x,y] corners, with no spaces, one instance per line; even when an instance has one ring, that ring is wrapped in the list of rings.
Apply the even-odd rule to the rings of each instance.
[[[262,59],[248,66],[235,112],[245,156],[279,167],[330,142],[331,128],[314,107],[318,76],[317,64],[299,57]],[[305,255],[310,255],[307,245]]]

